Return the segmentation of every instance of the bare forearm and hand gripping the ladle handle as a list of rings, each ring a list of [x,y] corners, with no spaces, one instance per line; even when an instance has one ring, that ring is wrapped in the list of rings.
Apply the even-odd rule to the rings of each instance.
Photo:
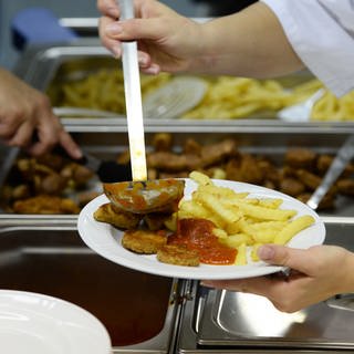
[[[229,17],[196,23],[155,0],[135,0],[136,19],[116,21],[114,0],[98,0],[103,43],[121,56],[121,42],[137,40],[147,73],[199,72],[277,76],[303,66],[280,22],[261,2]]]

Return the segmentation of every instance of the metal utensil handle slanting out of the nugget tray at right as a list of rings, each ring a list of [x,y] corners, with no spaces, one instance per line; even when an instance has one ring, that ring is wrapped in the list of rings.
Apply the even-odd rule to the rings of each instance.
[[[339,149],[334,160],[332,162],[329,170],[322,179],[321,185],[313,192],[311,198],[308,200],[308,206],[312,209],[317,209],[319,204],[330,190],[330,188],[335,184],[336,179],[341,176],[344,168],[354,157],[354,135],[351,135],[343,146]]]

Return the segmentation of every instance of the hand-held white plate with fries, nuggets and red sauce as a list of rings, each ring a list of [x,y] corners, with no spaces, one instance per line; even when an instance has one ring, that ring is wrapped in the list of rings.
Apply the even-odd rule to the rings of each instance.
[[[321,218],[292,197],[197,171],[185,184],[175,209],[146,215],[122,210],[114,198],[102,195],[81,211],[79,233],[91,249],[117,264],[184,279],[278,272],[283,268],[259,261],[258,247],[309,248],[324,241]]]

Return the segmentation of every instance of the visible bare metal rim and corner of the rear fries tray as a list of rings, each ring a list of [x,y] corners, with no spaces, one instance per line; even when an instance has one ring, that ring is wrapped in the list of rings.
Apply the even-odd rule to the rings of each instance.
[[[119,67],[121,62],[112,58],[104,49],[98,39],[83,39],[75,44],[65,45],[39,45],[32,46],[23,53],[17,63],[15,71],[19,76],[33,85],[45,91],[51,82],[65,82],[74,79],[86,77],[90,73],[98,69]],[[296,73],[287,77],[279,79],[295,85],[302,82],[308,74]],[[97,87],[98,90],[98,87]],[[84,127],[85,131],[95,132],[114,129],[116,132],[126,131],[125,117],[116,118],[63,118],[63,123],[69,131],[74,132]],[[279,119],[252,118],[244,119],[145,119],[147,129],[162,129],[170,126],[185,132],[190,131],[212,131],[212,132],[326,132],[332,133],[354,133],[354,123],[352,122],[310,122],[310,123],[284,123]]]

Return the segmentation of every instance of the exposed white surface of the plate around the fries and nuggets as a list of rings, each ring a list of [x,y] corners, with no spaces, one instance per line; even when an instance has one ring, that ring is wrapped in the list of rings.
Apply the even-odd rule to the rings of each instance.
[[[314,244],[321,244],[324,241],[325,228],[320,217],[301,201],[289,197],[284,194],[254,185],[229,181],[214,180],[218,186],[229,187],[236,191],[250,192],[249,197],[256,198],[281,198],[283,199],[283,209],[294,209],[298,216],[311,215],[315,219],[314,225],[299,232],[290,242],[290,247],[306,249]],[[185,198],[188,198],[196,184],[186,179]],[[84,242],[98,254],[104,258],[135,270],[147,273],[184,278],[184,279],[239,279],[257,275],[270,274],[282,270],[281,267],[266,264],[264,262],[251,262],[247,266],[209,266],[200,264],[199,267],[183,267],[162,263],[156,256],[140,256],[126,250],[121,244],[123,232],[105,222],[95,221],[94,211],[102,205],[107,202],[106,196],[102,195],[88,202],[79,216],[79,233]]]

